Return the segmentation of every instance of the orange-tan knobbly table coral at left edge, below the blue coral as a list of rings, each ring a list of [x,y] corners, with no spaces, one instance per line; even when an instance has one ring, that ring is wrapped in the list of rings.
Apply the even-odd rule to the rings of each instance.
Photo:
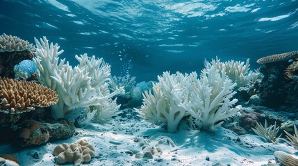
[[[49,107],[58,102],[55,91],[35,82],[0,79],[0,110],[6,113],[22,113],[34,107]]]

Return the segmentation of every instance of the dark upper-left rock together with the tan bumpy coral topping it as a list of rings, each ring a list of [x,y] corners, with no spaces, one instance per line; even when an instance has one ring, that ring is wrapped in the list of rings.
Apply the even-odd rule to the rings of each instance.
[[[0,77],[14,78],[13,68],[24,59],[32,59],[34,46],[19,37],[0,35]]]

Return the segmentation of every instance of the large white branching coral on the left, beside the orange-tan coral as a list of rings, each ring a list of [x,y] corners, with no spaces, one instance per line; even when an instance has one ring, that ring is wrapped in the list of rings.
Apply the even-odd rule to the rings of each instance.
[[[40,42],[35,38],[35,43],[34,61],[40,70],[41,80],[59,96],[58,104],[52,107],[55,118],[63,118],[78,107],[111,106],[110,111],[117,111],[118,107],[110,98],[121,93],[123,88],[110,93],[110,65],[102,58],[76,55],[79,64],[73,68],[68,62],[65,63],[65,59],[58,64],[58,55],[63,53],[63,50],[58,51],[58,44],[49,44],[46,37]]]

